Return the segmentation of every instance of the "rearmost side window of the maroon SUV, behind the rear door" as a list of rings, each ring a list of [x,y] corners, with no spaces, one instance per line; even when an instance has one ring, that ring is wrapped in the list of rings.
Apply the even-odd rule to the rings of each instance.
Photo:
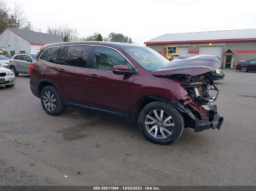
[[[59,61],[60,54],[62,52],[63,46],[48,48],[45,52],[41,55],[40,59],[57,64]]]

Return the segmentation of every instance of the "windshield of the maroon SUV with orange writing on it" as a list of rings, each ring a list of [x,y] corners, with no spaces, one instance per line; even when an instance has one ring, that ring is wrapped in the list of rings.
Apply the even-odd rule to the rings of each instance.
[[[162,68],[170,61],[151,48],[122,47],[142,68],[154,71]]]

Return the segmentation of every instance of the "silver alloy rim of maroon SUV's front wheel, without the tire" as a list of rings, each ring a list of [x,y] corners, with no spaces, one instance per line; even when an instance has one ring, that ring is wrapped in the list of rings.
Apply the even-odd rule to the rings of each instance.
[[[150,135],[155,138],[168,138],[174,130],[174,121],[164,110],[153,110],[145,118],[145,126]]]

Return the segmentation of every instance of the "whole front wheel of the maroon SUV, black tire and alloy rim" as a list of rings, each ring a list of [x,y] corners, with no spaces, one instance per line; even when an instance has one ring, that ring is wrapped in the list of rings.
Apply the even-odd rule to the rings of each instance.
[[[167,145],[177,141],[181,136],[184,118],[173,106],[155,101],[141,110],[139,127],[149,141]]]

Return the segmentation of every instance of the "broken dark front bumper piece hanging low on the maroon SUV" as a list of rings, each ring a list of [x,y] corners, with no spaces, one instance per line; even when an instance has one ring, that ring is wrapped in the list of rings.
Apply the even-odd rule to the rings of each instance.
[[[198,118],[196,118],[194,120],[195,132],[200,132],[206,129],[220,129],[223,120],[223,116],[217,112],[214,114],[213,120],[211,122],[209,121],[209,117],[206,117],[203,120],[199,120]]]

